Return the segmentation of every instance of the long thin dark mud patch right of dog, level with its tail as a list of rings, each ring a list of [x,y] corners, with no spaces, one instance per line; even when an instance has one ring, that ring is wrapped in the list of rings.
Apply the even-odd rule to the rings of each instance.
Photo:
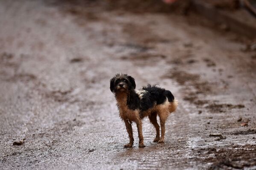
[[[244,108],[244,105],[239,104],[239,105],[232,105],[232,104],[210,104],[207,105],[205,108],[207,108],[209,111],[213,113],[222,113],[226,112],[227,109],[241,109]]]

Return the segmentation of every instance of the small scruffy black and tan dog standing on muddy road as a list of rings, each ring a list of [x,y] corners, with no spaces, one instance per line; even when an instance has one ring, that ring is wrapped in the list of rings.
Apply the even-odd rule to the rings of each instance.
[[[119,115],[124,121],[129,143],[124,147],[133,146],[132,122],[138,128],[138,147],[145,147],[142,135],[142,119],[148,117],[156,128],[156,138],[153,142],[165,142],[165,121],[171,112],[177,108],[178,102],[171,91],[159,88],[157,85],[147,85],[135,90],[135,79],[127,74],[116,74],[110,79],[110,90],[115,94]],[[156,116],[160,118],[161,137]]]

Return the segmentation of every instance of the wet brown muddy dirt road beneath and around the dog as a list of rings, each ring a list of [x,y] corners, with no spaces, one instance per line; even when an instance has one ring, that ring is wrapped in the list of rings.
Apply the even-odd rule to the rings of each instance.
[[[99,4],[0,1],[0,169],[256,169],[256,52],[182,16]],[[165,144],[144,119],[146,147],[135,127],[123,147],[117,72],[179,100]]]

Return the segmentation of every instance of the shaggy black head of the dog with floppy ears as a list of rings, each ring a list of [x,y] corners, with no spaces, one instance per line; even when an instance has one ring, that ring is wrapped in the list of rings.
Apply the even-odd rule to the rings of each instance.
[[[116,74],[115,77],[110,79],[110,90],[113,93],[122,91],[127,92],[135,89],[136,84],[133,77],[127,74]]]

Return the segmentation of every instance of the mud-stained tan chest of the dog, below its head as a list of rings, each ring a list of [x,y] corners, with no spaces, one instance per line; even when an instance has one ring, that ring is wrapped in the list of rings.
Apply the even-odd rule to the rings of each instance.
[[[129,121],[136,121],[139,119],[138,109],[132,110],[128,108],[126,94],[118,94],[116,95],[116,99],[121,119],[129,119]]]

